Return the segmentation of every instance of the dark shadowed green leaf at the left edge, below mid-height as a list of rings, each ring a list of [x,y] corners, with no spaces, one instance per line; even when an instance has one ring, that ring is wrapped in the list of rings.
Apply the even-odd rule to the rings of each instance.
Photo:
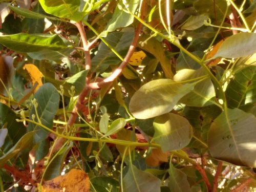
[[[16,119],[16,114],[7,105],[0,103],[0,126],[7,128],[13,145],[27,132],[24,124]]]

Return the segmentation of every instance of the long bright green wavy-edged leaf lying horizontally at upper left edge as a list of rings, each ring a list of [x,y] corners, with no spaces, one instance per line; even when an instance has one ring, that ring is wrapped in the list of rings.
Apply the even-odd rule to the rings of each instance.
[[[0,44],[17,52],[36,52],[44,49],[58,51],[67,49],[62,39],[58,35],[51,37],[42,37],[18,33],[15,35],[0,36]]]

